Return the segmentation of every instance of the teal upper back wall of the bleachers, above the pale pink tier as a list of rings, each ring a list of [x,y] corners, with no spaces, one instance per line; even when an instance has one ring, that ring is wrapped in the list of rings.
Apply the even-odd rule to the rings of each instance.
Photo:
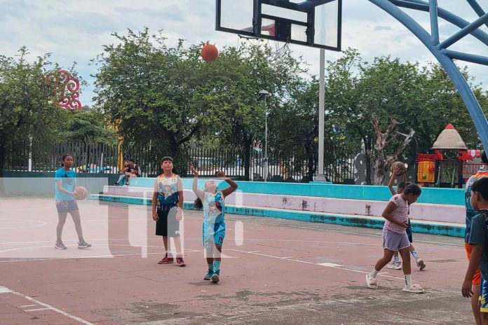
[[[132,186],[152,187],[154,179],[131,179]],[[183,187],[191,189],[193,179],[182,179]],[[302,183],[273,183],[236,181],[238,191],[244,193],[301,195],[322,198],[340,198],[352,200],[377,200],[388,201],[391,193],[387,186],[362,186],[362,185],[336,185],[336,184],[302,184]],[[198,180],[198,188],[203,189],[205,179]],[[219,188],[225,188],[226,184],[220,181]],[[464,190],[459,188],[422,188],[422,195],[418,202],[438,205],[464,205]]]

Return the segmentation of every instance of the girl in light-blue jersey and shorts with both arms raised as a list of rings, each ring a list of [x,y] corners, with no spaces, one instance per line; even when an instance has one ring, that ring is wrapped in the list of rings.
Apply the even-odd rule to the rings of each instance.
[[[217,181],[209,179],[205,181],[205,188],[201,191],[198,189],[198,171],[191,166],[191,172],[194,173],[193,191],[197,196],[195,207],[203,208],[202,237],[208,264],[208,272],[203,279],[217,283],[219,282],[222,244],[225,237],[224,200],[233,191],[236,191],[237,184],[226,178],[223,172],[218,172],[217,177],[226,181],[230,186],[222,191],[217,191]]]

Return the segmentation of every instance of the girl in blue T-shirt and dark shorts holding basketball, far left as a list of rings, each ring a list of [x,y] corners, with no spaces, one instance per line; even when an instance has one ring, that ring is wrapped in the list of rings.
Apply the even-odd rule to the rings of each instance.
[[[91,247],[91,244],[88,244],[88,242],[85,242],[83,239],[80,212],[78,209],[78,204],[76,203],[76,199],[79,198],[79,195],[76,193],[76,173],[71,169],[72,166],[73,156],[63,155],[62,168],[57,170],[55,173],[55,199],[57,217],[59,219],[57,221],[56,228],[57,240],[55,243],[55,248],[57,249],[67,249],[61,240],[61,235],[68,213],[71,214],[73,218],[76,233],[78,234],[78,248],[84,249]]]

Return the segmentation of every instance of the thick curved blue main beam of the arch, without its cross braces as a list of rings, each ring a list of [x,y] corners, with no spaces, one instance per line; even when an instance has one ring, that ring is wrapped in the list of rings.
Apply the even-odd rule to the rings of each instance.
[[[461,71],[456,67],[456,64],[452,62],[452,59],[447,55],[441,53],[437,46],[434,46],[431,41],[431,35],[426,32],[425,29],[419,25],[413,18],[404,13],[400,8],[393,4],[393,1],[388,0],[370,0],[372,4],[375,4],[379,8],[389,13],[393,18],[402,23],[410,32],[412,32],[428,50],[435,56],[440,65],[445,69],[449,78],[451,78],[454,85],[456,85],[459,95],[463,99],[466,108],[470,113],[478,135],[482,141],[483,147],[488,149],[488,121],[484,116],[480,103],[477,102],[473,91],[470,89],[468,82],[461,74]]]

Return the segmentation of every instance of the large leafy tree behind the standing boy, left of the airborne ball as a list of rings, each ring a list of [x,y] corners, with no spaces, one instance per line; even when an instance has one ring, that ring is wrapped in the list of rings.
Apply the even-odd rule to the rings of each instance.
[[[118,44],[104,46],[94,60],[97,106],[124,141],[151,141],[178,158],[179,148],[215,116],[206,106],[208,68],[198,60],[198,47],[185,48],[180,40],[168,48],[161,34],[151,36],[148,29],[113,35]]]

